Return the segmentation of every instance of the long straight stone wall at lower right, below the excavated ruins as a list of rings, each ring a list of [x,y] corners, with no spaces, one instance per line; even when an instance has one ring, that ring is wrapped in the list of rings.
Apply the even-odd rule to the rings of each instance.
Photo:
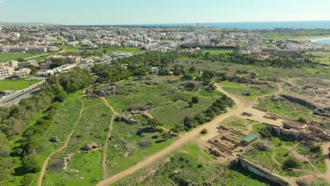
[[[288,182],[282,180],[281,178],[276,177],[275,175],[272,175],[269,171],[266,171],[259,166],[255,165],[254,163],[251,163],[250,161],[247,161],[242,156],[239,156],[240,164],[243,166],[243,168],[246,168],[247,170],[251,171],[252,173],[255,173],[256,175],[261,176],[262,178],[265,178],[271,182],[276,183],[277,185],[281,186],[287,186]]]

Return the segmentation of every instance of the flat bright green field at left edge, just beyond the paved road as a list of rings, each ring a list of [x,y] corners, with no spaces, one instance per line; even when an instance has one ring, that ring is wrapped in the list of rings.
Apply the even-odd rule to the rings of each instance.
[[[40,80],[0,80],[0,90],[25,89],[37,82],[40,82]]]

